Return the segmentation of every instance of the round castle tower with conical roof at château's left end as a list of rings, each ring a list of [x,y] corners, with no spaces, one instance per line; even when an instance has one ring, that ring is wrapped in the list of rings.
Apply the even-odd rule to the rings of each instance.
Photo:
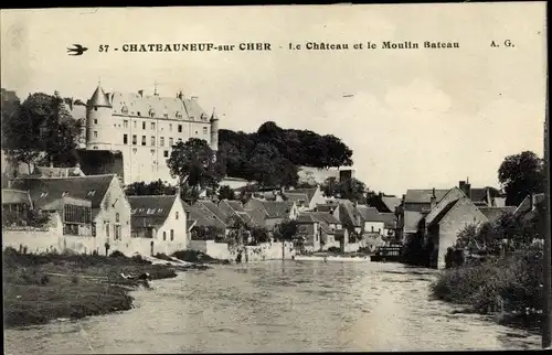
[[[110,150],[112,131],[112,104],[98,84],[86,105],[86,149]]]

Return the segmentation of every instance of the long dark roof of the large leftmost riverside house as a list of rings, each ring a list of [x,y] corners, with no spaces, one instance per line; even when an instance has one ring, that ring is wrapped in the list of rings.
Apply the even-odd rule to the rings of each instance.
[[[13,180],[12,187],[29,191],[36,206],[51,204],[62,198],[65,192],[72,197],[88,200],[95,217],[114,179],[115,174],[52,179],[18,178]],[[43,193],[47,194],[41,196]]]

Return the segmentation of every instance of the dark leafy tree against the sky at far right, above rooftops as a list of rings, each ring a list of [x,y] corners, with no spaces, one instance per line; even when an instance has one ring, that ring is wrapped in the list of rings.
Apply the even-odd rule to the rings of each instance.
[[[526,196],[544,191],[544,161],[531,151],[506,157],[498,170],[506,203],[519,205]]]

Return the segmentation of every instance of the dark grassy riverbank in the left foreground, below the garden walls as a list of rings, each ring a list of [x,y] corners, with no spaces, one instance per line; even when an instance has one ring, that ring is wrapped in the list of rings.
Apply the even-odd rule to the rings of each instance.
[[[176,277],[173,269],[138,257],[25,255],[3,251],[4,326],[46,323],[129,310],[136,284],[121,272]]]

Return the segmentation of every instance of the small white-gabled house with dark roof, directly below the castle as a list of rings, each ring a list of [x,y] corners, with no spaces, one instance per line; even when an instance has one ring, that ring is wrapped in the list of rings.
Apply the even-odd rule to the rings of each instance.
[[[180,194],[128,196],[128,201],[132,238],[153,239],[152,246],[166,254],[185,249],[187,214]]]

